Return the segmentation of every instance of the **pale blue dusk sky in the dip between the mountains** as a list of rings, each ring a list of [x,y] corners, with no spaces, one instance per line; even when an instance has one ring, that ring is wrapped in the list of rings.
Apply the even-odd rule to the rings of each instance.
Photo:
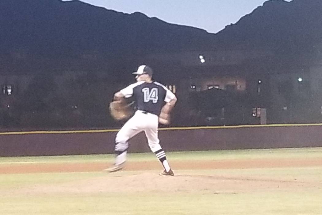
[[[70,1],[70,0],[63,0]],[[217,33],[267,0],[81,0],[124,13],[142,12],[163,21]],[[291,0],[286,0],[290,2]]]

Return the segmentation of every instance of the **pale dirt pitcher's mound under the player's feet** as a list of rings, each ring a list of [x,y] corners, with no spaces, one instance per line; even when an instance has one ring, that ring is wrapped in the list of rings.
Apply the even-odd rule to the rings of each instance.
[[[174,177],[159,176],[157,171],[107,173],[106,176],[88,180],[75,180],[58,185],[35,185],[18,192],[39,193],[99,193],[99,192],[201,192],[240,193],[265,191],[267,189],[289,190],[322,187],[308,181],[287,181],[267,177],[245,177],[225,175],[195,175],[178,172]]]

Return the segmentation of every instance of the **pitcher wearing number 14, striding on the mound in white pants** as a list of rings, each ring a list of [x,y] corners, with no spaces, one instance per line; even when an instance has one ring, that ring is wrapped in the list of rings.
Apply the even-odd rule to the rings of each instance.
[[[169,113],[177,99],[164,85],[152,80],[153,72],[149,66],[141,65],[137,72],[132,74],[136,74],[137,82],[115,93],[114,101],[133,97],[137,103],[137,111],[117,133],[114,149],[115,163],[106,170],[115,172],[122,169],[126,161],[129,139],[144,131],[151,151],[163,165],[164,171],[160,175],[173,176],[174,173],[166,160],[166,153],[159,144],[158,123],[168,123]]]

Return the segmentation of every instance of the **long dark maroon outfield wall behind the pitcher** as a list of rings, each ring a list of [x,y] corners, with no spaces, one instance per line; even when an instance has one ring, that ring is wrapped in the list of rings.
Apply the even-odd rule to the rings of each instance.
[[[118,130],[0,133],[0,156],[113,153]],[[166,151],[321,147],[322,124],[241,125],[162,128]],[[147,152],[144,133],[130,140],[129,152]]]

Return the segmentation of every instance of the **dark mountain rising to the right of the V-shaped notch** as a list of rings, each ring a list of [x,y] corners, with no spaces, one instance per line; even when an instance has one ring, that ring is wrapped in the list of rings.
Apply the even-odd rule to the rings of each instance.
[[[322,43],[322,1],[269,0],[216,34],[222,47],[309,51]]]

